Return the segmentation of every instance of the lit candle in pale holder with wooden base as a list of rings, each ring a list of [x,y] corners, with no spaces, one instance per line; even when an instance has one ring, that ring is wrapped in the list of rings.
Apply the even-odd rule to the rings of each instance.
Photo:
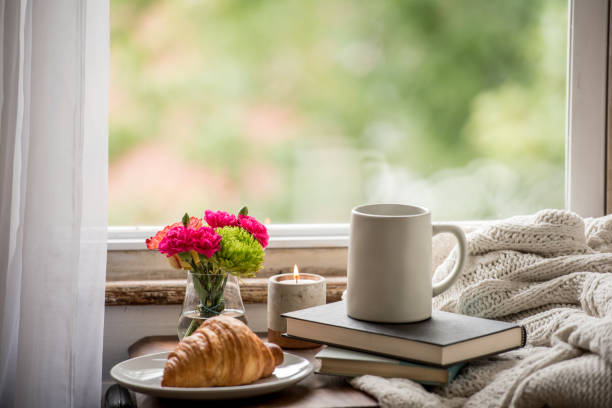
[[[287,339],[287,319],[281,314],[325,304],[325,278],[311,273],[285,273],[268,280],[268,340],[284,348],[311,348],[316,343]]]

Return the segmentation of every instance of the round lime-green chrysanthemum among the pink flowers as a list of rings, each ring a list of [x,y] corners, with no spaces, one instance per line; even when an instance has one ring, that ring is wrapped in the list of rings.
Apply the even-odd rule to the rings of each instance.
[[[241,278],[250,278],[263,268],[263,248],[248,231],[240,227],[223,227],[215,231],[221,235],[221,249],[211,261],[222,270]]]

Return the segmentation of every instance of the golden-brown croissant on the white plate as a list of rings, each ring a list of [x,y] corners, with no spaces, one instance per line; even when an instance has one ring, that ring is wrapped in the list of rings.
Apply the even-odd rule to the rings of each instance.
[[[168,355],[164,387],[219,387],[249,384],[272,374],[283,362],[276,344],[264,344],[233,317],[208,319]]]

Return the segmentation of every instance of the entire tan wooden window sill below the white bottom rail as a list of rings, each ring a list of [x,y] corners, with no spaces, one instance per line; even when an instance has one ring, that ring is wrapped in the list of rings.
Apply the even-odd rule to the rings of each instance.
[[[463,226],[463,225],[462,225]],[[472,228],[463,226],[466,230]],[[433,270],[442,263],[455,240],[450,234],[433,238]],[[247,304],[264,304],[268,297],[268,279],[290,273],[297,264],[300,272],[314,273],[327,280],[327,301],[340,300],[346,289],[345,247],[268,248],[264,269],[257,278],[244,279],[240,291]],[[183,303],[186,272],[171,269],[166,259],[155,251],[112,250],[108,252],[106,306],[175,305]]]

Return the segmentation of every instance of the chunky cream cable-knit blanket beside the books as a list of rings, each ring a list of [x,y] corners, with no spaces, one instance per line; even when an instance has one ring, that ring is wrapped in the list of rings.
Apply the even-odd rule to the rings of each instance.
[[[445,386],[375,376],[351,384],[383,407],[612,407],[612,215],[544,210],[467,239],[463,274],[434,308],[521,324],[527,346],[474,360]]]

